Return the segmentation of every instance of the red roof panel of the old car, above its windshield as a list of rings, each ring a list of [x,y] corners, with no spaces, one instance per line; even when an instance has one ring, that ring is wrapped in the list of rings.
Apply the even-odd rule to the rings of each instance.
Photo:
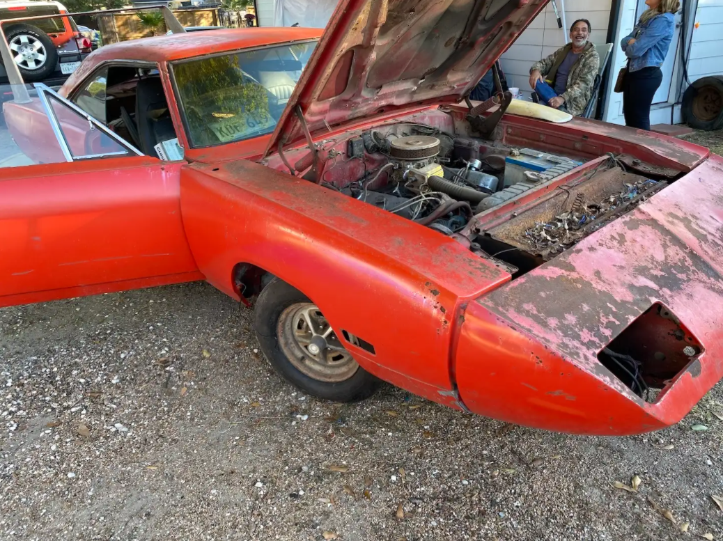
[[[101,47],[93,53],[93,57],[94,64],[104,60],[173,61],[223,51],[317,39],[322,32],[319,28],[247,27],[159,35]]]

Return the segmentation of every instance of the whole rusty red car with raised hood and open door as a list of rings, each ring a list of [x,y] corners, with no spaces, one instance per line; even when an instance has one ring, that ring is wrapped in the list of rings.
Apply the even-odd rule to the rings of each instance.
[[[466,100],[545,0],[341,0],[324,33],[104,46],[4,105],[0,306],[206,280],[323,399],[566,433],[723,376],[723,159]]]

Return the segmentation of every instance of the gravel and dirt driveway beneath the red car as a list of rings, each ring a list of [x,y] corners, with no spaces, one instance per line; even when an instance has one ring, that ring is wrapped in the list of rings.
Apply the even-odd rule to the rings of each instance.
[[[391,387],[339,406],[275,376],[249,321],[201,283],[0,310],[0,539],[723,539],[721,385],[630,438]]]

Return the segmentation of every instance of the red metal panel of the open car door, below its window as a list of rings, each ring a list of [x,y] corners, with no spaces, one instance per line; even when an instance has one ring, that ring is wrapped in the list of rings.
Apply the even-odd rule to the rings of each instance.
[[[0,168],[0,306],[202,278],[181,220],[181,165]]]

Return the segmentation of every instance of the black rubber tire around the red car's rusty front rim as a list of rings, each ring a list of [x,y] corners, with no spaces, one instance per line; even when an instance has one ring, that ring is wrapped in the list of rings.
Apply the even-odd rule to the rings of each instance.
[[[307,368],[307,373],[298,368],[297,365],[304,365],[304,362],[308,361],[312,361],[315,365],[320,364],[313,361],[308,351],[305,351],[307,357],[296,358],[297,365],[291,360],[287,352],[295,350],[294,344],[299,348],[302,346],[295,341],[293,333],[288,332],[288,321],[291,317],[289,314],[304,306],[316,308],[304,293],[278,278],[270,282],[260,293],[254,312],[254,330],[261,350],[271,366],[288,383],[314,397],[333,402],[358,402],[371,397],[379,388],[381,381],[356,364],[356,361],[351,359],[351,355],[348,357],[351,363],[356,365],[356,370],[348,376],[343,373],[335,375],[335,381],[322,381],[309,375],[313,373],[311,368]],[[330,338],[338,340],[333,332]],[[335,343],[341,344],[341,342]],[[351,370],[353,365],[349,364],[348,367]],[[343,380],[338,381],[341,377]]]

